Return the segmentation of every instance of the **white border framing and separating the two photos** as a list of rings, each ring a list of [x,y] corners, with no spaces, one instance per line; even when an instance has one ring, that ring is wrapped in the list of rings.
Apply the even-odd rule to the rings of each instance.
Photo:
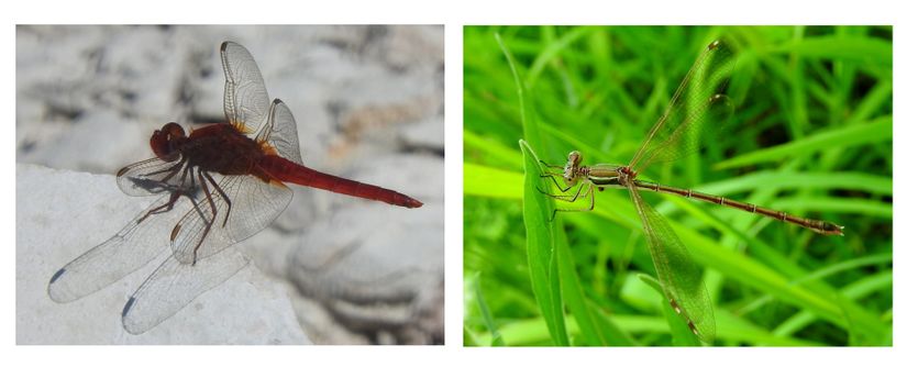
[[[14,2],[14,4],[13,4]],[[2,68],[7,81],[2,101],[7,123],[15,121],[14,42],[16,23],[406,23],[445,25],[445,346],[434,347],[12,347],[4,362],[20,365],[41,360],[57,366],[70,364],[119,366],[324,366],[394,365],[888,365],[894,348],[464,348],[463,314],[463,52],[462,26],[468,24],[894,24],[895,45],[904,36],[899,20],[907,14],[896,1],[4,1]],[[902,47],[895,47],[895,96],[904,96]],[[902,63],[897,63],[902,62]],[[903,98],[896,100],[896,105]],[[897,110],[897,107],[895,108]],[[904,123],[895,123],[903,136]],[[14,171],[14,133],[7,130],[3,171]],[[904,162],[904,147],[895,144],[895,162]],[[897,176],[897,169],[896,174]],[[14,202],[13,180],[3,180],[3,202]],[[900,192],[895,181],[895,191]],[[895,202],[895,229],[904,227]],[[18,203],[22,204],[22,203]],[[14,207],[3,208],[5,256],[3,290],[5,318],[3,344],[15,344]],[[11,238],[12,237],[12,238]],[[895,234],[895,238],[897,234]],[[895,247],[898,247],[895,242]],[[895,252],[896,264],[907,264],[904,252]],[[895,270],[897,278],[900,271]],[[895,281],[895,304],[905,282]],[[10,297],[12,296],[12,297]],[[904,318],[895,319],[897,331]],[[7,352],[7,351],[4,351]],[[12,358],[10,358],[10,356]],[[12,360],[11,360],[12,359]],[[887,363],[886,363],[887,362]],[[32,363],[33,364],[33,363]],[[30,364],[31,365],[31,364]]]

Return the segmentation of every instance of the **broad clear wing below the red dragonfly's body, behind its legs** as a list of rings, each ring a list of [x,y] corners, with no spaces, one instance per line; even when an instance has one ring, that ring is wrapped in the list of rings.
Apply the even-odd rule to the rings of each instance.
[[[170,246],[181,263],[191,264],[209,257],[261,232],[292,200],[292,190],[283,184],[266,184],[252,175],[225,176],[218,186],[229,202],[211,188],[212,201],[203,200],[187,211],[177,224],[178,231],[175,231]],[[217,209],[217,215],[212,208]],[[209,222],[211,226],[204,234]]]

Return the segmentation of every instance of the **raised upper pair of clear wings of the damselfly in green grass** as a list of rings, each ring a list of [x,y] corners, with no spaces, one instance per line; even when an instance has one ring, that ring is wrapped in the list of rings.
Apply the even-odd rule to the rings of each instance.
[[[630,168],[643,171],[651,164],[676,160],[696,153],[706,136],[718,136],[733,114],[733,103],[723,94],[733,64],[733,52],[726,42],[709,44],[649,131]]]

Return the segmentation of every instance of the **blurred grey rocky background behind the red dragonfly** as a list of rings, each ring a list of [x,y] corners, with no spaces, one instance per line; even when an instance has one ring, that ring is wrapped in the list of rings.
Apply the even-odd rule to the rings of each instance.
[[[223,122],[228,40],[292,111],[307,166],[425,203],[291,187],[289,208],[243,249],[290,285],[313,343],[443,343],[443,26],[20,25],[16,163],[112,181],[153,156],[165,123]]]

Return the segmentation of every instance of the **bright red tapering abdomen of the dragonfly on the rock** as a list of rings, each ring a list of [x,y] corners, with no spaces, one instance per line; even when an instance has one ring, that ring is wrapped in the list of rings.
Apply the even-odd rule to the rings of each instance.
[[[258,163],[258,167],[270,177],[284,182],[309,186],[363,199],[384,201],[386,203],[399,207],[422,207],[421,201],[405,196],[400,192],[345,179],[343,177],[323,174],[275,155],[266,155],[262,157]]]

